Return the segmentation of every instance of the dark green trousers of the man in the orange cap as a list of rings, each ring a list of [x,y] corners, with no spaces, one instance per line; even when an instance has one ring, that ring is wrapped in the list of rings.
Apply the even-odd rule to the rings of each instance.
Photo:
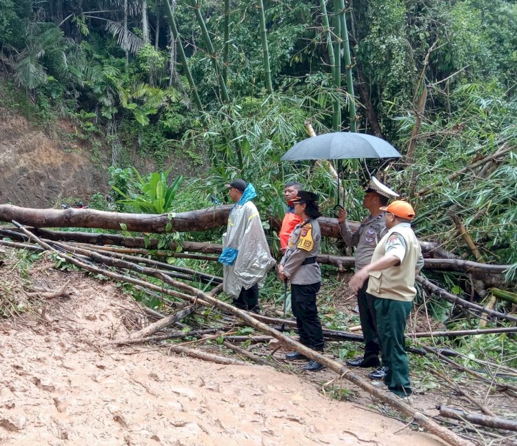
[[[374,306],[381,358],[388,367],[384,383],[398,396],[411,395],[404,330],[413,302],[376,298]]]

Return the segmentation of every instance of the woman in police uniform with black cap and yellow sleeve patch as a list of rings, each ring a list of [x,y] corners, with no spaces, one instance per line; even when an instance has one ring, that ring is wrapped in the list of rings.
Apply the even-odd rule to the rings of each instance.
[[[298,191],[293,200],[294,213],[302,222],[294,228],[287,250],[280,261],[278,276],[291,282],[292,312],[300,334],[300,342],[316,351],[323,351],[323,331],[316,308],[316,294],[321,286],[320,266],[316,256],[320,251],[321,231],[316,218],[321,214],[318,209],[318,195],[308,191]],[[307,359],[293,351],[285,355],[287,359]],[[303,367],[305,370],[323,369],[319,362],[311,360]]]

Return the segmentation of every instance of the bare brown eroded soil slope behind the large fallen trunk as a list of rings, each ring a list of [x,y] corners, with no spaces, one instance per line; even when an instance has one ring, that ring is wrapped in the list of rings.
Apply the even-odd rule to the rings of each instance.
[[[73,128],[61,130],[65,134]],[[2,108],[0,171],[0,203],[17,206],[45,208],[65,197],[87,200],[106,189],[105,174],[75,142],[51,138],[26,118]]]

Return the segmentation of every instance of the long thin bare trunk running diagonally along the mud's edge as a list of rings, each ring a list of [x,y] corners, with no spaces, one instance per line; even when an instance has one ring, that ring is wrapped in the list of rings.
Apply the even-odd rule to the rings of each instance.
[[[30,235],[30,232],[27,231],[23,226],[19,225],[17,222],[13,222],[19,228]],[[34,237],[34,235],[33,235]],[[49,244],[43,242],[42,240],[39,240],[38,237],[34,237],[34,239],[45,249],[48,249],[53,252],[59,253],[56,249],[52,248]],[[63,253],[59,253],[61,256],[63,256]],[[125,278],[121,274],[112,273],[111,271],[103,271],[95,266],[92,266],[90,264],[86,264],[85,262],[81,262],[80,260],[77,260],[75,258],[72,258],[70,255],[64,255],[65,260],[68,260],[77,266],[80,266],[83,269],[86,269],[87,271],[94,271],[96,273],[101,272],[103,275],[107,277],[116,278],[117,280],[125,280],[127,282],[131,283],[137,283],[141,284],[141,280],[135,280],[134,278]],[[207,307],[216,307],[223,311],[226,311],[227,313],[231,313],[234,316],[237,316],[241,319],[243,319],[245,322],[250,324],[250,326],[255,327],[256,329],[259,329],[263,331],[264,333],[268,333],[274,338],[278,339],[279,341],[283,342],[284,345],[287,347],[290,347],[290,349],[293,349],[295,351],[298,351],[299,353],[303,354],[304,356],[307,356],[307,358],[310,358],[312,360],[318,361],[321,364],[325,365],[325,367],[328,367],[332,371],[335,371],[336,373],[340,374],[342,378],[345,378],[349,380],[350,382],[354,383],[358,387],[361,387],[361,389],[369,392],[369,394],[372,394],[376,396],[379,400],[383,401],[384,403],[389,404],[394,409],[401,411],[401,413],[405,414],[406,416],[411,417],[416,423],[418,423],[420,426],[427,429],[432,434],[435,434],[439,438],[443,439],[446,443],[453,446],[467,446],[472,445],[468,440],[465,440],[463,438],[460,438],[458,435],[456,435],[454,432],[450,431],[449,429],[438,425],[434,420],[431,418],[425,416],[421,411],[418,411],[416,409],[413,409],[411,406],[404,403],[400,398],[397,398],[396,396],[389,394],[388,392],[385,392],[381,389],[378,389],[377,387],[374,387],[371,385],[367,380],[361,378],[360,376],[357,376],[356,374],[353,374],[347,367],[345,367],[340,362],[337,362],[335,360],[332,360],[330,358],[327,358],[327,356],[324,356],[323,354],[319,353],[318,351],[314,351],[312,349],[309,349],[305,347],[305,345],[302,345],[300,342],[297,342],[296,340],[283,335],[278,330],[272,329],[271,327],[267,326],[263,322],[259,322],[259,320],[256,320],[250,314],[245,313],[245,311],[241,311],[239,309],[236,309],[230,304],[227,304],[225,302],[221,302],[220,300],[217,300],[216,298],[212,298],[210,295],[207,295],[207,293],[203,293],[203,291],[196,289],[194,287],[190,287],[189,285],[183,284],[181,282],[176,282],[175,280],[172,280],[168,278],[167,276],[163,275],[162,278],[163,282],[168,283],[178,289],[182,289],[183,291],[190,292],[192,295],[183,295],[183,293],[176,293],[172,290],[165,290],[161,289],[160,287],[150,287],[151,289],[159,289],[159,291],[167,291],[171,295],[177,295],[178,297],[185,298],[187,300],[190,300],[191,302],[196,302],[202,305],[205,305]],[[176,347],[172,348],[173,351],[180,352],[184,347]],[[187,349],[185,349],[187,350]],[[185,353],[186,351],[183,350]]]

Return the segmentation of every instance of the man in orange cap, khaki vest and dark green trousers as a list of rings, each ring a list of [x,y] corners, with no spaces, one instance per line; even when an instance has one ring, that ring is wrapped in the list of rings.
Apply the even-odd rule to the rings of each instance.
[[[396,200],[385,211],[387,234],[378,242],[372,262],[354,274],[349,286],[358,291],[366,280],[374,307],[383,365],[384,383],[400,397],[411,395],[404,330],[416,295],[415,276],[423,266],[422,251],[411,229],[415,211]]]

